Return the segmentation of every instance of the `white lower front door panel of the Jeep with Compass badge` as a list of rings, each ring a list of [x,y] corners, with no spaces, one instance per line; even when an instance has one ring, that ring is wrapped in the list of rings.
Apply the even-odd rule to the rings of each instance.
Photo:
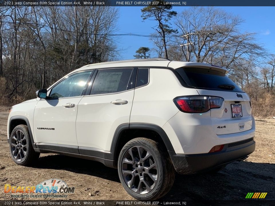
[[[34,111],[34,136],[36,143],[65,144],[77,146],[75,122],[80,97],[60,98],[54,100],[41,99]],[[72,108],[64,104],[75,104]],[[54,128],[44,130],[38,128]]]

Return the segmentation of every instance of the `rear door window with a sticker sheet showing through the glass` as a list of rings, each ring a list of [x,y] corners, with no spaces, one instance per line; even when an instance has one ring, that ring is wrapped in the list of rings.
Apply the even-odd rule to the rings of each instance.
[[[131,89],[133,69],[98,70],[91,94],[109,94]]]

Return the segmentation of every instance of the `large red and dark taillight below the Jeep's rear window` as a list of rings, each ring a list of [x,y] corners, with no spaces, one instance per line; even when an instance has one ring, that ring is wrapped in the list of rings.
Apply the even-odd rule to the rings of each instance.
[[[212,108],[220,108],[223,98],[215,96],[181,96],[173,101],[182,112],[201,113]]]

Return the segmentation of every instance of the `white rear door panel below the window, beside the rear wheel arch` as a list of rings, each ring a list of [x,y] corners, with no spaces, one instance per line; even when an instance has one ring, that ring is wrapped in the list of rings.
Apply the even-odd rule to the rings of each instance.
[[[129,124],[134,90],[117,94],[85,96],[78,104],[76,134],[78,146],[110,151],[113,136],[121,124]],[[112,101],[127,100],[115,105]]]

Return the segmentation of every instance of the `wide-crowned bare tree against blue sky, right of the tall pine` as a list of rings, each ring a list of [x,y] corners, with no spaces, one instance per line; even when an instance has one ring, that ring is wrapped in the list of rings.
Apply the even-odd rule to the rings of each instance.
[[[230,68],[235,60],[263,55],[261,45],[255,43],[255,33],[241,33],[242,19],[214,7],[191,7],[184,10],[175,24],[192,43],[193,61],[216,62]],[[186,40],[183,39],[183,43]],[[185,47],[182,47],[188,59]]]

